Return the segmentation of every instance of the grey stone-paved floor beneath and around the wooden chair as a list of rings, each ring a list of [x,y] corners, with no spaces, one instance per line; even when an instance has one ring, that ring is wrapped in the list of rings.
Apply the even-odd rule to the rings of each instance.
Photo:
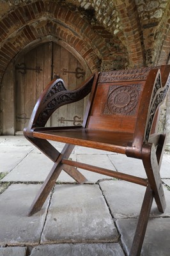
[[[121,154],[75,147],[70,157],[146,177],[141,161]],[[165,154],[160,174],[167,207],[160,214],[153,203],[143,256],[170,255],[169,165]],[[144,188],[84,170],[88,182],[78,185],[61,172],[42,210],[27,217],[51,166],[23,136],[0,136],[0,256],[128,255]]]

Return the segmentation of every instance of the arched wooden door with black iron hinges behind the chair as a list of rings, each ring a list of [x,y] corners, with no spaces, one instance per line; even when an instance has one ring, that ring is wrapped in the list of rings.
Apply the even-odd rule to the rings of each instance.
[[[74,90],[89,76],[88,66],[81,63],[61,45],[53,42],[39,45],[20,58],[16,70],[15,131],[27,126],[36,100],[54,77],[65,81],[66,88]],[[50,126],[81,125],[84,100],[58,109],[50,118]]]

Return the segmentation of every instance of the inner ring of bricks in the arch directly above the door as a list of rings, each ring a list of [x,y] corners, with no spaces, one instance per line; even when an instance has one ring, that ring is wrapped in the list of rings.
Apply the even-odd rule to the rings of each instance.
[[[48,22],[48,20],[47,20]],[[70,33],[69,29],[63,28],[62,25],[59,25],[58,28],[55,28],[54,31],[50,31],[49,27],[44,26],[44,24],[39,24],[38,29],[33,27],[33,24],[30,26],[24,26],[20,31],[17,31],[16,35],[13,38],[8,39],[4,42],[3,47],[0,50],[0,58],[3,63],[10,63],[12,60],[22,49],[27,47],[27,45],[31,44],[32,42],[42,41],[41,38],[47,36],[53,36],[54,38],[58,38],[59,40],[63,40],[66,44],[70,45],[77,51],[82,58],[88,63],[89,68],[92,72],[100,69],[100,60],[98,59],[97,54],[94,52],[94,49],[84,40],[81,38],[73,35]],[[56,36],[57,35],[57,36]],[[5,65],[1,67],[1,74],[5,70]]]

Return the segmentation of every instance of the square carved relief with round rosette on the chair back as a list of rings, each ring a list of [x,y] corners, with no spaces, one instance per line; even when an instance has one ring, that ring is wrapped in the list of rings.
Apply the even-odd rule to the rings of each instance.
[[[135,115],[140,88],[140,84],[110,86],[103,114]]]

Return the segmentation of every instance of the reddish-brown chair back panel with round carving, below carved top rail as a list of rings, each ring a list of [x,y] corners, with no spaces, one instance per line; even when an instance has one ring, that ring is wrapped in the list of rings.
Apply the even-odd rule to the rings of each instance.
[[[144,81],[98,83],[89,129],[134,132]]]

